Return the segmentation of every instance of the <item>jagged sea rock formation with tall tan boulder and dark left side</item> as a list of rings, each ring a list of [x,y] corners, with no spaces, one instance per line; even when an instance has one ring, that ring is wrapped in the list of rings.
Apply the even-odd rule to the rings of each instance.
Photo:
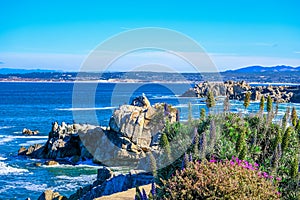
[[[179,119],[176,108],[165,103],[150,105],[145,96],[131,105],[116,109],[108,127],[89,124],[52,123],[44,145],[21,147],[19,155],[51,159],[72,164],[93,159],[106,166],[142,166],[139,161],[149,151],[158,151],[158,141],[166,120]]]

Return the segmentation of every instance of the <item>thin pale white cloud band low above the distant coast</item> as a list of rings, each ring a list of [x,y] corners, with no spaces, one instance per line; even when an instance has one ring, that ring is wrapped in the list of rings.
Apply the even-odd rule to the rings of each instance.
[[[109,54],[110,52],[106,52]],[[105,59],[106,53],[102,52],[99,57],[93,60],[93,65],[96,68],[92,68],[91,71],[97,71],[99,69],[99,60]],[[300,52],[299,52],[300,53]],[[238,54],[226,54],[226,53],[195,53],[195,52],[178,52],[172,54],[168,52],[137,52],[129,53],[120,58],[114,60],[109,68],[105,68],[106,71],[128,71],[134,68],[141,70],[149,69],[150,71],[155,69],[163,70],[159,66],[166,66],[170,70],[178,72],[206,72],[216,71],[212,65],[215,64],[218,71],[224,71],[228,69],[237,69],[251,65],[262,66],[275,66],[275,65],[290,65],[300,66],[300,58],[281,58],[281,57],[263,57],[263,56],[242,56]],[[202,66],[199,69],[195,69],[184,58],[198,59],[199,56],[203,59]],[[203,56],[203,57],[202,57]],[[79,71],[82,63],[85,59],[88,59],[87,55],[80,54],[50,54],[50,53],[1,53],[0,60],[2,62],[1,67],[8,68],[25,68],[25,69],[56,69],[63,71]],[[152,66],[152,67],[150,67]],[[205,67],[206,66],[206,67]],[[210,67],[207,67],[210,66]],[[98,67],[98,68],[97,68]]]

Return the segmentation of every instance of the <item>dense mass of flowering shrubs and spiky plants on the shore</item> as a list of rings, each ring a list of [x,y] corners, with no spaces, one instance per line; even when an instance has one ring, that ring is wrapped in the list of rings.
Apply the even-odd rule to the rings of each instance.
[[[253,114],[228,112],[226,99],[224,112],[215,113],[210,101],[211,96],[208,116],[201,110],[199,119],[166,124],[160,143],[164,160],[176,158],[179,144],[191,145],[167,167],[157,167],[158,187],[151,199],[300,199],[296,110],[288,108],[275,121],[269,98]]]

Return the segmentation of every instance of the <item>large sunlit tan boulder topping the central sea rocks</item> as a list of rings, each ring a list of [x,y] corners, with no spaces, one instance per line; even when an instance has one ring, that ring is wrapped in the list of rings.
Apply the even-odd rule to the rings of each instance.
[[[115,110],[109,126],[134,144],[149,147],[152,138],[164,128],[165,121],[175,122],[177,115],[177,109],[167,104],[150,106],[149,100],[142,96],[134,99],[132,105],[122,105]]]

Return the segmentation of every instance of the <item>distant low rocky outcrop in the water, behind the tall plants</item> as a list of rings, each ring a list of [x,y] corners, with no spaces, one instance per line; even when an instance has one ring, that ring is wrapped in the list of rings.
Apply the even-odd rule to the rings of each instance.
[[[212,91],[214,96],[228,96],[229,99],[236,100],[244,100],[245,93],[251,92],[252,101],[259,101],[262,96],[270,95],[272,100],[278,103],[300,102],[299,86],[250,86],[245,81],[203,82],[196,84],[193,89],[189,89],[182,96],[204,98],[208,91]]]

